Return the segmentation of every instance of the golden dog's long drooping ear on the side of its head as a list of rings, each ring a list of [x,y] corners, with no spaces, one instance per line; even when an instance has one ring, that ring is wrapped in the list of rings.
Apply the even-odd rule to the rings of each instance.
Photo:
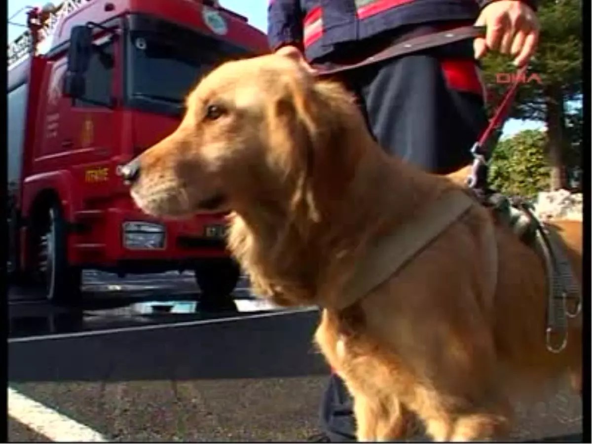
[[[313,189],[316,153],[323,146],[323,133],[318,127],[316,97],[308,89],[288,85],[284,94],[271,104],[270,146],[281,164],[285,179],[295,181],[291,210],[304,213],[314,222],[320,220]]]

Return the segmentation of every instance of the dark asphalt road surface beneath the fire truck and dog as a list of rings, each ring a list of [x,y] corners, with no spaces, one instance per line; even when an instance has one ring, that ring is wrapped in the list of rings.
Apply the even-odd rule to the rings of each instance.
[[[328,374],[311,345],[318,313],[247,307],[241,287],[236,313],[200,311],[188,275],[86,275],[81,310],[13,288],[9,390],[105,440],[304,440]],[[564,387],[517,412],[516,438],[581,439],[581,402]],[[9,441],[48,441],[24,425],[39,415],[10,417]]]

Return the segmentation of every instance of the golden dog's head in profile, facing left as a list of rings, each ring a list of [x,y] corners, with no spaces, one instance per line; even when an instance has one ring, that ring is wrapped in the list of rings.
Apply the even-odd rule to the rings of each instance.
[[[189,94],[177,130],[134,160],[131,195],[161,217],[262,205],[318,218],[318,199],[353,174],[352,126],[364,128],[352,96],[298,53],[228,62]]]

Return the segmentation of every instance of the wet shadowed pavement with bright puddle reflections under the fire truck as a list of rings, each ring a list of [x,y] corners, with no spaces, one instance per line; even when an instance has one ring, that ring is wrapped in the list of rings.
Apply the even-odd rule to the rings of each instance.
[[[242,282],[234,293],[237,303],[224,307],[205,307],[199,303],[195,284],[182,279],[160,276],[142,281],[104,278],[83,288],[81,301],[75,306],[48,303],[43,292],[33,286],[13,285],[9,289],[9,337],[132,327],[153,323],[175,323],[213,317],[235,316],[238,303],[253,300],[248,282]],[[247,284],[247,285],[245,285]],[[256,311],[256,308],[251,310]]]

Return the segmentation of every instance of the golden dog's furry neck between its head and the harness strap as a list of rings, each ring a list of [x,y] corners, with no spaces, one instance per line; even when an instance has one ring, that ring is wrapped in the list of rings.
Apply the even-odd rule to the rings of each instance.
[[[387,156],[374,141],[363,147],[339,195],[317,201],[317,222],[266,205],[231,215],[229,247],[256,292],[279,305],[332,305],[366,246],[446,187]]]

